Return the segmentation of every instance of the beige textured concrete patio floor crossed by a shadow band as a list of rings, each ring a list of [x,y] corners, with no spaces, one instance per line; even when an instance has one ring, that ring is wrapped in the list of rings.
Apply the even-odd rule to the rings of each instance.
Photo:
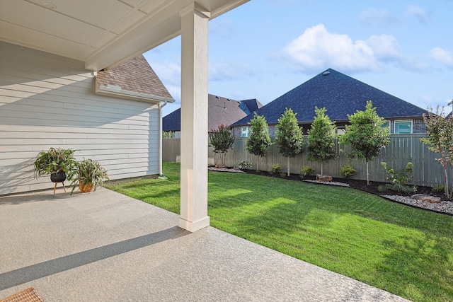
[[[100,188],[0,197],[0,298],[44,301],[407,301]]]

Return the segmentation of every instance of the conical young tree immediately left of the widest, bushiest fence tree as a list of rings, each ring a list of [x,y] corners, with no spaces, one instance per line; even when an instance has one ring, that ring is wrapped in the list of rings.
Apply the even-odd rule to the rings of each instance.
[[[309,141],[306,158],[309,161],[321,163],[321,175],[323,174],[323,163],[337,158],[335,139],[335,123],[326,115],[326,108],[315,107],[313,124],[309,129]]]

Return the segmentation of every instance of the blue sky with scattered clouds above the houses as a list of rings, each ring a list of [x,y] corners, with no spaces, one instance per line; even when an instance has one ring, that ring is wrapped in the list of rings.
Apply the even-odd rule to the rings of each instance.
[[[263,105],[332,68],[426,109],[453,99],[453,0],[252,0],[209,23],[209,93]],[[144,54],[180,108],[180,37]],[[365,108],[364,108],[365,109]]]

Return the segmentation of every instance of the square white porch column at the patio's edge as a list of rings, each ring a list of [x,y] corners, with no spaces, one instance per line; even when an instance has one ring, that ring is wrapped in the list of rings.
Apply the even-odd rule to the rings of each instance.
[[[179,227],[210,225],[207,216],[207,22],[195,3],[181,18],[181,191]]]

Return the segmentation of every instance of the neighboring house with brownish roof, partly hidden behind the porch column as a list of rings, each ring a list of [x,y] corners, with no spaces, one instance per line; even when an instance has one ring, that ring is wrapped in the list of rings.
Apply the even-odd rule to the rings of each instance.
[[[208,95],[208,132],[217,129],[220,124],[230,125],[241,120],[243,117],[263,107],[253,98],[251,100],[231,100],[217,95]],[[181,110],[175,110],[164,117],[162,129],[166,132],[175,132],[175,137],[180,137]]]

